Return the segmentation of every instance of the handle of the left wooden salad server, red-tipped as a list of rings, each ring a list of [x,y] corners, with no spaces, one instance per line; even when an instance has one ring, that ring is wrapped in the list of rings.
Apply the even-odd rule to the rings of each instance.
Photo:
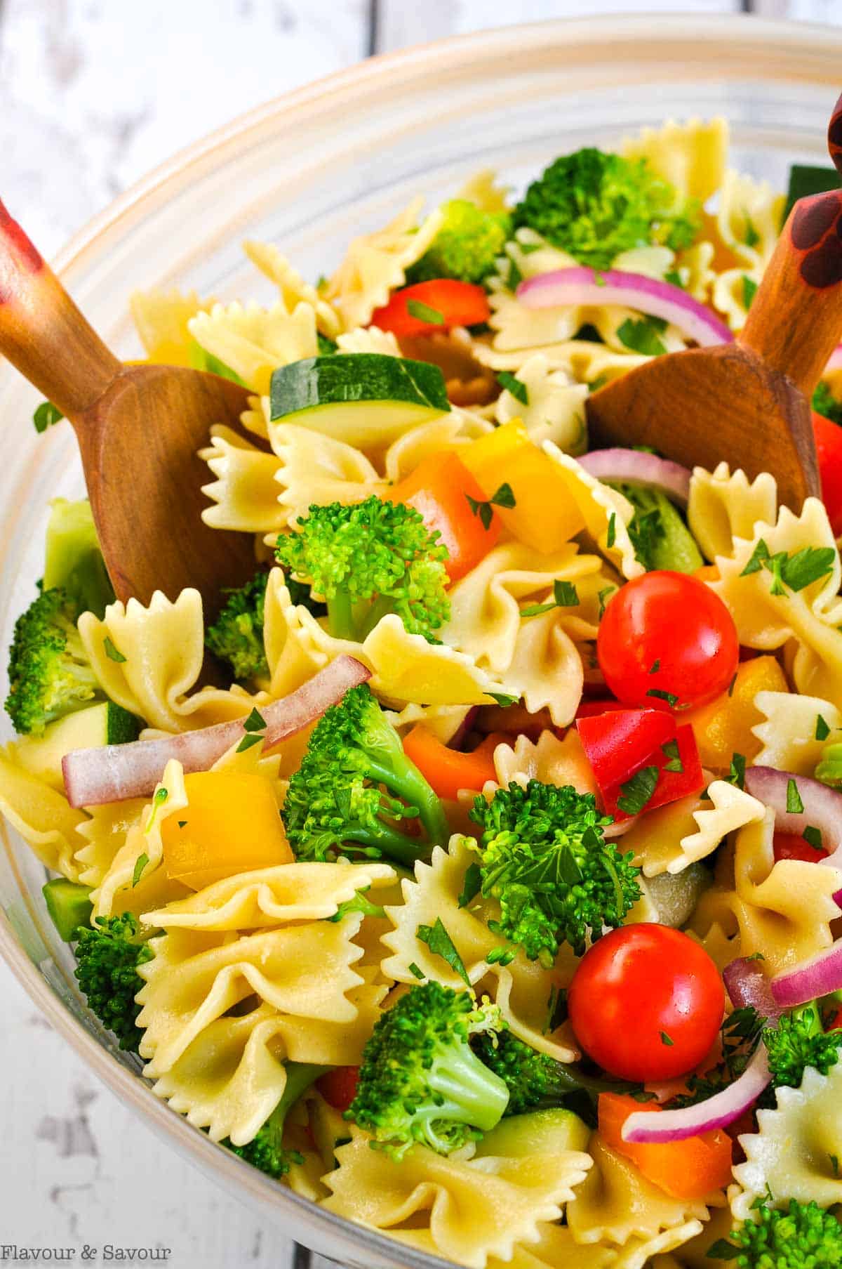
[[[0,353],[71,420],[123,369],[3,202]]]

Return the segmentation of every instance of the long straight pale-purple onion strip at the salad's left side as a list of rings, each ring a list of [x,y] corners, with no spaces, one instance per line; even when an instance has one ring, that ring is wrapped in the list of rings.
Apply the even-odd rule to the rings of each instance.
[[[353,656],[337,656],[303,687],[261,707],[266,749],[316,722],[346,692],[370,678],[370,670]],[[185,772],[207,772],[245,735],[242,722],[235,720],[160,740],[76,749],[61,763],[67,801],[74,807],[82,807],[146,797],[155,792],[171,758],[178,759]]]

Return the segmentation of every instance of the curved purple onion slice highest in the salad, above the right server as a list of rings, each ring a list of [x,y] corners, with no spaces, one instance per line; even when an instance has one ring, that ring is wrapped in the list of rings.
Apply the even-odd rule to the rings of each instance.
[[[662,317],[701,348],[733,343],[733,334],[710,308],[681,287],[642,273],[620,269],[554,269],[528,278],[517,287],[526,308],[560,308],[573,305],[624,305],[649,317]]]

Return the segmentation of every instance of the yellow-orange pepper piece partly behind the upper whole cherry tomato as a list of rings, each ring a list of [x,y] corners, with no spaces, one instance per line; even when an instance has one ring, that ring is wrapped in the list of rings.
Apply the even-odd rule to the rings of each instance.
[[[752,727],[763,721],[755,704],[758,692],[789,692],[784,671],[774,656],[742,661],[730,695],[725,692],[681,720],[692,723],[703,766],[725,772],[733,754],[743,754],[749,763],[757,758],[761,742],[752,735]]]

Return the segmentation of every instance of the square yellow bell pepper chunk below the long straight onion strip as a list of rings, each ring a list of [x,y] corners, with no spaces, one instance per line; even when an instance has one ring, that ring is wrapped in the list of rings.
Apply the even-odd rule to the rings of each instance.
[[[265,775],[197,772],[184,777],[188,805],[161,825],[167,877],[204,890],[223,877],[293,863]]]

